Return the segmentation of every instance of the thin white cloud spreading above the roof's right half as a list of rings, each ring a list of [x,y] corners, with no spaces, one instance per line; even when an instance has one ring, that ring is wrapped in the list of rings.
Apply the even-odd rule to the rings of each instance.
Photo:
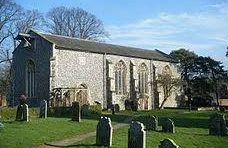
[[[197,13],[163,12],[154,18],[122,26],[111,25],[107,26],[107,29],[111,34],[112,43],[149,49],[158,48],[165,52],[183,47],[201,55],[224,60],[221,55],[225,55],[226,52],[227,20],[228,5],[217,4]],[[224,47],[224,50],[219,51],[223,53],[216,53],[221,47]],[[210,55],[211,51],[214,51],[214,54]]]

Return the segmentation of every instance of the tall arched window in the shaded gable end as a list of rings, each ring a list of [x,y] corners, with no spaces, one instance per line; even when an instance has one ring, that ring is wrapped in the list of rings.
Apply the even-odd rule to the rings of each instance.
[[[32,60],[26,65],[26,94],[28,97],[35,96],[35,64]]]

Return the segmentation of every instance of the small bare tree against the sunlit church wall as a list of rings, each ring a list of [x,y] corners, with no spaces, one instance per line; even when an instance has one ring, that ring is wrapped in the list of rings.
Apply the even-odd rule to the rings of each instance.
[[[157,83],[162,87],[164,100],[162,101],[159,109],[162,109],[165,102],[168,98],[172,95],[172,93],[180,86],[181,80],[179,78],[174,78],[172,75],[165,73],[165,74],[158,74]]]

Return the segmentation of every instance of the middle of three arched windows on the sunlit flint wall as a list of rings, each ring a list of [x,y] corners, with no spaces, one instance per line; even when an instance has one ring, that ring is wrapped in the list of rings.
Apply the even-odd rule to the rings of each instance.
[[[142,63],[139,66],[139,93],[146,94],[148,93],[148,68],[145,63]]]

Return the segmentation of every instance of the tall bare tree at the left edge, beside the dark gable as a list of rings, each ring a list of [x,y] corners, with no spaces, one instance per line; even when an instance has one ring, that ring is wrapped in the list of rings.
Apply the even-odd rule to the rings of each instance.
[[[8,95],[11,85],[12,51],[18,33],[41,26],[37,10],[24,10],[12,0],[0,0],[0,94]]]

